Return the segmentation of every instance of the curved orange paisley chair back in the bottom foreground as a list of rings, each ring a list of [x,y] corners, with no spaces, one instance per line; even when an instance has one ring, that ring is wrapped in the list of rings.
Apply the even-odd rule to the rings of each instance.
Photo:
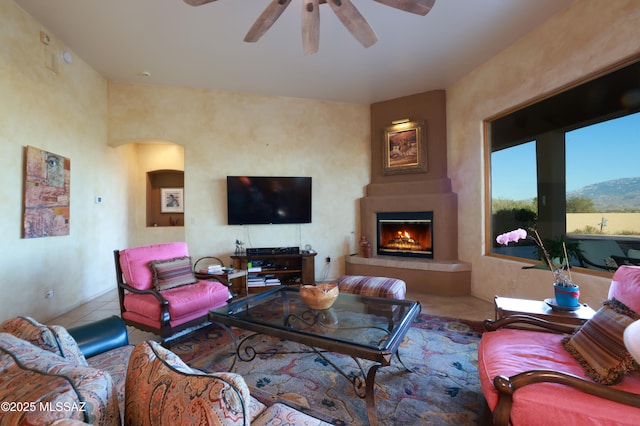
[[[135,347],[126,380],[125,424],[249,425],[241,376],[196,372],[157,342]]]

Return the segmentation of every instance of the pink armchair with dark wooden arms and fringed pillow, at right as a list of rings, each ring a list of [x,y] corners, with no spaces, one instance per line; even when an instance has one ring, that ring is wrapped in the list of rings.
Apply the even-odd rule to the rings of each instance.
[[[637,425],[640,375],[622,342],[637,313],[640,267],[621,266],[608,300],[577,330],[525,315],[485,321],[478,373],[493,423]],[[503,327],[518,323],[554,332]]]

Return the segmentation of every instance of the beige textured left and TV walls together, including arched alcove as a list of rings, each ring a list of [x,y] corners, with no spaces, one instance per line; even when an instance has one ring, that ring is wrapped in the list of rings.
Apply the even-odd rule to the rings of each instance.
[[[58,63],[57,74],[45,68],[40,30],[46,31],[12,0],[0,0],[0,320],[48,320],[112,289],[112,250],[138,244],[186,239],[194,256],[228,256],[236,238],[253,246],[312,244],[322,256],[318,278],[341,273],[341,257],[359,229],[357,200],[369,182],[367,105],[108,88],[75,54],[72,64]],[[48,35],[59,55],[64,46]],[[150,142],[179,146],[154,150]],[[21,238],[26,145],[71,159],[69,236]],[[179,154],[171,152],[176,148]],[[187,224],[146,228],[144,174],[177,164],[186,171]],[[313,223],[225,225],[227,174],[312,176]],[[104,199],[100,206],[96,195]],[[326,255],[333,258],[329,270],[320,260]],[[43,296],[49,289],[53,299]]]

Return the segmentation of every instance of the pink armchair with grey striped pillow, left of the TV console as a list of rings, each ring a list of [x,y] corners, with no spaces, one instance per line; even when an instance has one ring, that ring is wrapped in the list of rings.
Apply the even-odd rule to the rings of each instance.
[[[229,298],[223,284],[194,276],[184,242],[115,250],[114,257],[122,319],[159,335],[163,346],[208,324],[209,310]]]

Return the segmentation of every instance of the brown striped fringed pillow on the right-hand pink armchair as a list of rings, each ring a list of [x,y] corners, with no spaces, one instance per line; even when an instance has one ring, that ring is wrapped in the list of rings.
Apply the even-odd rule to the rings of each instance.
[[[638,370],[626,347],[624,330],[640,316],[617,299],[602,304],[596,314],[562,345],[584,368],[587,376],[603,385],[619,383]]]

